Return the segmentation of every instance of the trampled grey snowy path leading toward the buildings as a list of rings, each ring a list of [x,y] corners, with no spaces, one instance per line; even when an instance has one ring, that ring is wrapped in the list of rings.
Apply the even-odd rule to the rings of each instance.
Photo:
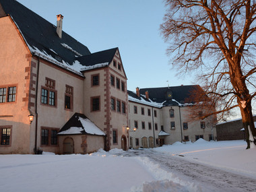
[[[182,156],[170,156],[149,149],[130,150],[121,155],[149,158],[155,164],[160,164],[160,168],[174,173],[176,177],[200,186],[202,191],[256,191],[256,179],[191,162]]]

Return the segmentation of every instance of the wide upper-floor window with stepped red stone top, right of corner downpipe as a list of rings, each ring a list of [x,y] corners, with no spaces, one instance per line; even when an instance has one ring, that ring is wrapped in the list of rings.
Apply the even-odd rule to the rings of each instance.
[[[41,103],[49,106],[55,106],[55,100],[57,96],[57,91],[55,90],[55,80],[45,78],[45,87],[41,90]]]

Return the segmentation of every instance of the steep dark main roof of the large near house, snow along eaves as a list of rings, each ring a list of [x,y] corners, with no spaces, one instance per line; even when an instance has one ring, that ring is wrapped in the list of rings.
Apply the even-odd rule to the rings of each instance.
[[[38,55],[60,67],[79,71],[88,66],[102,67],[102,63],[110,63],[115,49],[90,53],[87,46],[62,31],[59,38],[56,26],[44,20],[18,1],[0,0],[0,18],[10,15],[20,30],[32,54]],[[65,21],[65,19],[64,19]]]

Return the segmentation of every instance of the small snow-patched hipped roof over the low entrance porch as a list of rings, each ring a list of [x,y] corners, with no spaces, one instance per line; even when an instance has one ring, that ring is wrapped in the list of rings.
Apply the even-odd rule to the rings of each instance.
[[[58,133],[58,135],[77,134],[106,135],[82,113],[75,113]]]

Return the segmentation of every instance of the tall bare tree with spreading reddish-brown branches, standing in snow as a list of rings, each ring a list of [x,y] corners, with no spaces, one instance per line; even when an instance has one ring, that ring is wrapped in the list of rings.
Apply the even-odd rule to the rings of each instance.
[[[165,0],[161,32],[170,42],[167,53],[179,72],[198,72],[213,115],[241,111],[247,138],[256,143],[252,100],[256,96],[255,1]],[[249,92],[250,90],[250,92]],[[205,106],[206,106],[205,105]],[[249,129],[250,127],[250,129]]]

